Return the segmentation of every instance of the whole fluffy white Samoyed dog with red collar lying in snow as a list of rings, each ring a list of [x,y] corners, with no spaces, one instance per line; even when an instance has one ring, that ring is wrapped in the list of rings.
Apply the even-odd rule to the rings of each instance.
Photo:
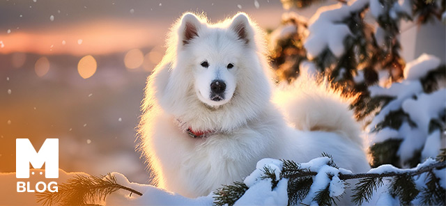
[[[307,162],[322,152],[353,173],[369,169],[348,101],[309,80],[277,89],[265,48],[244,13],[216,24],[185,13],[172,26],[139,125],[158,187],[206,196],[260,159]]]

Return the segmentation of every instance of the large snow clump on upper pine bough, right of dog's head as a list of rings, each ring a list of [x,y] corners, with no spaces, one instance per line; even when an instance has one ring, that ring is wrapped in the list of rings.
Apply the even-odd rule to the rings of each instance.
[[[338,3],[319,8],[309,20],[309,37],[304,43],[309,59],[315,58],[327,47],[334,56],[344,54],[344,39],[352,33],[346,24],[339,22],[367,6],[367,3],[368,0],[357,0],[350,6]],[[330,35],[326,31],[330,31]]]

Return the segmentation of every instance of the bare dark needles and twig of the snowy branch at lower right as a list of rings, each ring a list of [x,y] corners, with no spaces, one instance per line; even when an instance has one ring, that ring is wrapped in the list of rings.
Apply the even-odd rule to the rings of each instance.
[[[328,154],[323,154],[325,157],[330,157]],[[309,190],[313,184],[313,177],[318,173],[309,171],[308,168],[300,168],[300,164],[290,160],[282,160],[283,168],[280,178],[288,179],[287,193],[289,196],[289,205],[302,204],[299,201],[305,199]],[[335,166],[334,163],[328,162],[328,165]],[[433,164],[422,166],[417,169],[394,169],[390,172],[384,173],[357,173],[357,174],[338,174],[340,180],[359,179],[359,182],[355,184],[353,189],[353,201],[357,205],[362,205],[365,201],[369,201],[373,196],[374,191],[383,185],[383,177],[392,177],[392,193],[394,196],[398,196],[400,202],[403,204],[409,204],[413,198],[415,198],[420,190],[415,187],[413,177],[421,175],[422,173],[433,173],[433,170],[440,170],[446,167],[446,161],[436,161]],[[276,180],[275,171],[271,168],[264,168],[265,173],[262,178],[270,178],[273,181]],[[433,179],[432,179],[433,178]],[[421,194],[424,196],[426,203],[438,203],[444,199],[444,195],[438,191],[445,191],[440,187],[439,179],[431,177],[430,183],[427,184],[427,188],[422,190]],[[328,188],[322,189],[316,192],[314,201],[318,205],[333,205],[335,198],[330,197],[330,184]],[[243,196],[245,191],[249,189],[243,182],[235,182],[235,185],[224,186],[222,189],[218,189],[215,194],[214,205],[233,205],[236,201]],[[274,187],[272,187],[274,189]],[[435,194],[432,194],[435,192]],[[443,198],[443,199],[442,199]]]

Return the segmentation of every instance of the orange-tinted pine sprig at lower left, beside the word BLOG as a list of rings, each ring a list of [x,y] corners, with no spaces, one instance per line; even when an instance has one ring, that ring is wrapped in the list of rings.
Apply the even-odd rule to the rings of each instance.
[[[96,176],[76,175],[67,183],[59,185],[58,192],[37,193],[37,201],[42,205],[94,205],[96,200],[104,200],[110,194],[124,189],[142,196],[142,193],[116,182],[111,174]]]

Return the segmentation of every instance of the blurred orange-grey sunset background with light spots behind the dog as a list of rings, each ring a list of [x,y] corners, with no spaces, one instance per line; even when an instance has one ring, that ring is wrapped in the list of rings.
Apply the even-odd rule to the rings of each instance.
[[[312,3],[298,14],[310,18],[333,3],[339,1]],[[272,31],[285,10],[279,0],[0,1],[0,173],[15,171],[15,138],[29,138],[36,149],[59,138],[65,171],[116,171],[148,182],[134,151],[139,106],[169,27],[187,11],[206,13],[210,22],[243,11]],[[406,61],[420,51],[445,61],[444,29],[401,27]],[[443,47],[431,35],[443,35]]]

